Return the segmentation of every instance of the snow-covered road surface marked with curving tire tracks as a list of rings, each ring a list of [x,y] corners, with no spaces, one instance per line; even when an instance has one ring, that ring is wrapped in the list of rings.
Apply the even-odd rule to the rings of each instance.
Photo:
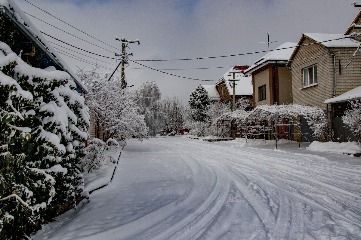
[[[361,158],[242,144],[130,140],[112,182],[33,238],[361,238]]]

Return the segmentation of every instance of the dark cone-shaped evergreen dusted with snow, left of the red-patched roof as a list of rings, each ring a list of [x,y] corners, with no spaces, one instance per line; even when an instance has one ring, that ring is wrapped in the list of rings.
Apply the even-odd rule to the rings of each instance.
[[[193,121],[204,122],[207,116],[206,111],[210,104],[207,90],[199,84],[191,93],[188,104],[190,106],[189,116]],[[187,119],[189,120],[189,119]]]

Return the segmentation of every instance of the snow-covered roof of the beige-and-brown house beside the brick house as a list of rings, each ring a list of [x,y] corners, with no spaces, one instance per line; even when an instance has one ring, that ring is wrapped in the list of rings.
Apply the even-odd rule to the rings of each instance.
[[[282,45],[275,48],[274,51],[271,51],[270,54],[267,53],[265,56],[255,61],[255,64],[250,66],[244,73],[252,73],[253,71],[268,64],[269,62],[286,64],[288,59],[290,59],[293,51],[295,50],[295,46],[297,46],[297,43],[283,43]]]

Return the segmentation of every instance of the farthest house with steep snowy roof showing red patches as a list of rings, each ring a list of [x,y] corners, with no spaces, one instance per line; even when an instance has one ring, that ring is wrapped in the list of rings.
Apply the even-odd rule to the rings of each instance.
[[[239,73],[235,73],[235,79],[239,79],[239,82],[236,82],[235,87],[235,100],[237,101],[241,97],[252,99],[252,74],[244,74],[244,71],[247,68],[248,66],[238,65],[231,67],[231,69],[228,70],[218,82],[216,82],[216,89],[223,102],[232,102],[233,88],[231,87],[230,80],[233,79],[233,74],[230,73],[230,71],[239,71]]]

